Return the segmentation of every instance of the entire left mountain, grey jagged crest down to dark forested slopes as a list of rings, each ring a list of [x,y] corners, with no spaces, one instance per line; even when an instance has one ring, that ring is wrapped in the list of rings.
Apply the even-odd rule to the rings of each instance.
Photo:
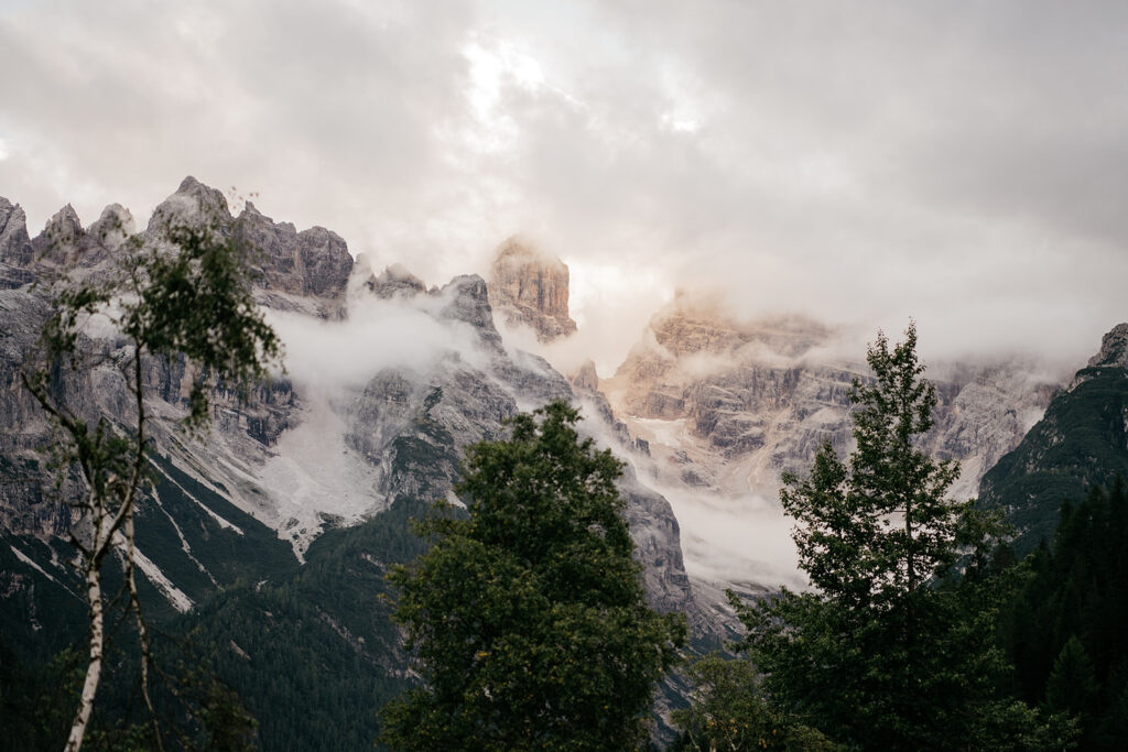
[[[380,600],[386,566],[423,545],[408,517],[450,498],[466,444],[573,392],[545,361],[506,350],[477,276],[432,290],[402,267],[369,276],[331,231],[298,232],[253,205],[231,218],[222,195],[192,178],[146,237],[215,215],[221,232],[262,250],[255,295],[284,342],[287,373],[248,400],[217,392],[212,430],[190,437],[175,431],[183,365],[144,363],[157,485],[139,513],[142,596],[162,628],[199,630],[201,655],[240,690],[267,749],[367,745],[379,704],[411,681]],[[33,661],[81,639],[85,605],[64,540],[76,489],[54,488],[49,425],[19,369],[50,312],[49,275],[114,263],[129,218],[109,207],[104,219],[83,230],[64,209],[30,239],[23,211],[0,202],[0,623],[3,642]],[[68,378],[68,402],[127,423],[112,365],[123,343],[90,327],[79,347],[103,357]],[[602,435],[600,421],[584,423]],[[622,487],[651,602],[708,632],[669,504],[633,476]]]

